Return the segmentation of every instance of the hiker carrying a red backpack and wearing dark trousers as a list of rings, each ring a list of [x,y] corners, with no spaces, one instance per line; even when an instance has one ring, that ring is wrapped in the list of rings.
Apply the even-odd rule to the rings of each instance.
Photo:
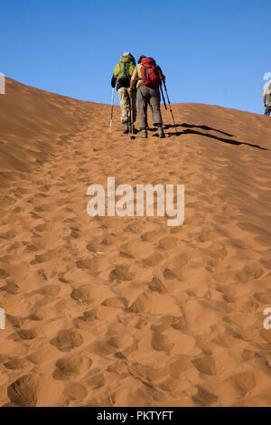
[[[133,72],[130,90],[137,88],[136,99],[139,115],[139,126],[141,137],[147,138],[147,106],[150,104],[152,109],[153,124],[158,127],[158,136],[164,137],[163,120],[160,109],[160,90],[159,86],[165,80],[161,68],[156,65],[153,58],[140,56],[138,64]],[[137,81],[137,82],[136,82]]]

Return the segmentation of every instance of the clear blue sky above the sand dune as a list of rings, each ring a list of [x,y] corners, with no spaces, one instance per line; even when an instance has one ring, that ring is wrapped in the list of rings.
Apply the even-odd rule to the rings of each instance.
[[[9,0],[0,72],[76,99],[110,103],[122,52],[150,55],[173,103],[263,113],[271,72],[269,1]]]

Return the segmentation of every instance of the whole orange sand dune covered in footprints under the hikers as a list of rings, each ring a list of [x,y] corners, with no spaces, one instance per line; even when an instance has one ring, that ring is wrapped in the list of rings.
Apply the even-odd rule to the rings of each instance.
[[[178,137],[131,143],[108,106],[8,81],[2,406],[271,405],[271,119],[173,110]],[[107,176],[185,184],[185,223],[91,219]]]

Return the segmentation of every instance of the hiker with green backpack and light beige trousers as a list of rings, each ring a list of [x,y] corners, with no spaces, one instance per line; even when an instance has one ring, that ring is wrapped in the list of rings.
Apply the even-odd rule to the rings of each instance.
[[[130,52],[124,52],[114,68],[113,77],[111,80],[112,88],[116,87],[119,96],[119,103],[121,109],[121,122],[123,123],[123,133],[127,134],[131,131],[131,126],[134,126],[136,119],[136,91],[129,90],[130,80],[135,70],[135,58]],[[131,111],[130,111],[130,96],[133,105],[133,123],[131,124]]]

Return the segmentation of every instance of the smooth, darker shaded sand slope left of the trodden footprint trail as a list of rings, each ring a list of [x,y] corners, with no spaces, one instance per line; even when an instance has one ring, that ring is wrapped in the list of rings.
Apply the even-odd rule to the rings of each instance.
[[[6,79],[6,95],[0,96],[0,186],[49,158],[55,139],[76,133],[89,108],[91,103]]]

